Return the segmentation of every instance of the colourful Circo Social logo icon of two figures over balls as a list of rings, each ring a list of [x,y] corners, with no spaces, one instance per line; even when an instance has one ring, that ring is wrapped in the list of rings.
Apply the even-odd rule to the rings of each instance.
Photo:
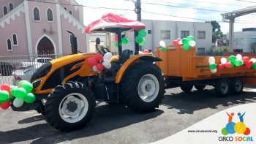
[[[227,112],[226,112],[227,113]],[[251,130],[246,127],[246,125],[244,124],[244,115],[241,115],[241,113],[237,113],[238,117],[239,117],[239,122],[234,123],[232,121],[233,116],[235,115],[234,113],[227,113],[228,115],[228,123],[227,125],[222,129],[222,134],[223,135],[227,135],[227,134],[244,134],[244,135],[249,135]]]

